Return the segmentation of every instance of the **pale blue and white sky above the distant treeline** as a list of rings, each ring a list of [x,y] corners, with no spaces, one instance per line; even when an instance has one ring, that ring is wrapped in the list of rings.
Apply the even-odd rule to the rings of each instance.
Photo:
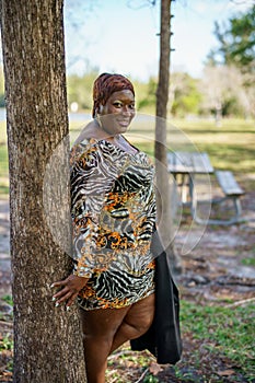
[[[79,0],[76,0],[79,3]],[[158,76],[160,1],[66,0],[65,30],[68,73],[119,72],[147,81]],[[202,73],[206,57],[217,47],[215,21],[228,20],[251,8],[254,0],[172,1],[171,70],[195,78]]]

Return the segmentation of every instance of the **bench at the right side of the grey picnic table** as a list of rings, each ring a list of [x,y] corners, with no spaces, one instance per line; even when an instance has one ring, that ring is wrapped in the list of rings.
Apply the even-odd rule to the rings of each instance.
[[[228,220],[216,220],[216,223],[232,224],[232,223],[244,221],[244,218],[242,218],[242,206],[241,206],[240,197],[243,196],[245,192],[240,187],[232,172],[216,171],[215,174],[224,194],[224,197],[218,201],[222,202],[227,199],[230,199],[232,200],[234,210],[235,210],[235,214],[232,218]]]

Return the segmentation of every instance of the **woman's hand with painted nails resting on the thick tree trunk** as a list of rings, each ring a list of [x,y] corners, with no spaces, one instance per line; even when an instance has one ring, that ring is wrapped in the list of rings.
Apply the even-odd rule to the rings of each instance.
[[[84,288],[89,278],[79,277],[71,274],[65,280],[54,282],[51,285],[51,288],[61,288],[61,290],[53,297],[53,301],[56,302],[55,305],[58,306],[60,303],[67,302],[66,306],[68,309],[74,302],[76,298]]]

